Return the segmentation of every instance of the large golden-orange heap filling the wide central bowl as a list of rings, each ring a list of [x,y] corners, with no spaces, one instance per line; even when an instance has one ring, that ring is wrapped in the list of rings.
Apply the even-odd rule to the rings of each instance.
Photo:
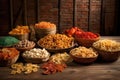
[[[38,41],[46,49],[64,49],[73,46],[74,39],[64,34],[49,34]]]

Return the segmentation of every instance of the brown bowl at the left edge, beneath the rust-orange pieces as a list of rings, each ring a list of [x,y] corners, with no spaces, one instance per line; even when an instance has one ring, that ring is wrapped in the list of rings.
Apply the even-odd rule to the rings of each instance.
[[[8,60],[1,60],[0,61],[0,66],[11,66],[12,64],[14,64],[19,58],[19,54],[16,55],[14,58],[12,59],[8,59]]]

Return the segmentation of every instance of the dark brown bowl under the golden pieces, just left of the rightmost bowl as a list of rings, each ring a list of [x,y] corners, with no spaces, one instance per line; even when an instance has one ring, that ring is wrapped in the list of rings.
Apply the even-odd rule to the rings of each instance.
[[[92,64],[96,61],[98,55],[96,57],[90,57],[90,58],[82,58],[82,57],[76,57],[70,54],[70,56],[73,58],[73,60],[80,64]]]

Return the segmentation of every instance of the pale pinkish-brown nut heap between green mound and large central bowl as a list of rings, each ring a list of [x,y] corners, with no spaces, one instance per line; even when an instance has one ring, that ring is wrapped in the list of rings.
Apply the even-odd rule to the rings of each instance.
[[[32,47],[35,43],[33,41],[29,41],[27,39],[19,41],[18,44],[14,45],[16,48],[28,48]]]

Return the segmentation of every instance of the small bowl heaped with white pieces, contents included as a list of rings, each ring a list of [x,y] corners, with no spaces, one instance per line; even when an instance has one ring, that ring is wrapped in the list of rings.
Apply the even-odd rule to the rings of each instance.
[[[25,62],[38,64],[48,61],[50,58],[50,53],[45,49],[34,48],[30,51],[23,52],[21,56]]]

